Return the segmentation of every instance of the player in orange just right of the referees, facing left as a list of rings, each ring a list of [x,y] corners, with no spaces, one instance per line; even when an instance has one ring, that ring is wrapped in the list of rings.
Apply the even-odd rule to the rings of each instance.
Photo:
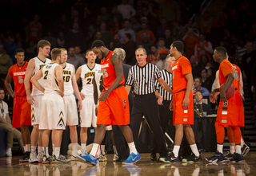
[[[194,124],[194,103],[192,94],[193,76],[190,61],[182,56],[184,45],[182,41],[174,41],[170,45],[170,55],[175,57],[172,67],[172,81],[174,97],[170,103],[170,110],[173,112],[175,126],[174,150],[167,158],[160,158],[162,162],[179,162],[178,151],[182,143],[183,131],[190,144],[193,154],[182,162],[202,161],[201,154],[195,144],[194,132],[190,125]]]

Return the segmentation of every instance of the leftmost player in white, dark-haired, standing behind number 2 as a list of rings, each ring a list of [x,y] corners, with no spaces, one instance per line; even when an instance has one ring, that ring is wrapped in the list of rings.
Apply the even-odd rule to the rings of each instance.
[[[43,92],[38,90],[34,85],[32,87],[32,93],[30,92],[30,77],[34,76],[45,65],[50,64],[49,57],[50,42],[46,40],[38,41],[38,56],[30,59],[26,68],[26,74],[24,79],[24,85],[26,88],[26,100],[31,104],[31,122],[33,130],[31,132],[31,153],[29,162],[42,162],[42,132],[38,129],[41,113],[41,103]],[[43,86],[43,79],[38,82]],[[36,154],[36,147],[38,144],[38,157]]]

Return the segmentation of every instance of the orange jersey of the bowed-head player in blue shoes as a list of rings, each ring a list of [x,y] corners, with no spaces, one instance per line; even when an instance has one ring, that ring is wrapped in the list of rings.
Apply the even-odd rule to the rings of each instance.
[[[104,88],[110,88],[110,86],[113,84],[114,80],[117,78],[114,70],[114,65],[111,63],[111,56],[114,54],[113,51],[110,51],[105,59],[102,59],[101,65],[102,65],[102,73],[103,73],[103,87]],[[125,83],[125,77],[122,76],[122,81],[120,84]]]

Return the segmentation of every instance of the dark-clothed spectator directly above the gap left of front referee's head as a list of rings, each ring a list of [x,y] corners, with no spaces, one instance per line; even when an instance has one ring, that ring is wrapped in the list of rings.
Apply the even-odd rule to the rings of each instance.
[[[134,60],[134,52],[135,52],[135,43],[131,40],[130,33],[125,33],[123,37],[124,41],[124,50],[126,52],[126,58],[123,61],[127,65],[132,65]]]

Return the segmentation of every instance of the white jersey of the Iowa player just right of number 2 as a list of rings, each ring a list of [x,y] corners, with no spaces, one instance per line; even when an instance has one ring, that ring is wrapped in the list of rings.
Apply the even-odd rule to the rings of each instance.
[[[73,65],[66,63],[66,66],[63,68],[64,96],[74,94],[72,74],[74,74]]]

